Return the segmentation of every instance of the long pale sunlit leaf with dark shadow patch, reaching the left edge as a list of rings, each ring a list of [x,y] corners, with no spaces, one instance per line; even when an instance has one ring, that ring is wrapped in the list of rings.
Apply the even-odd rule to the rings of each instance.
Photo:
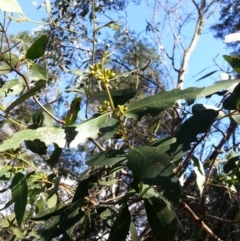
[[[36,130],[25,129],[16,132],[11,138],[3,141],[0,152],[15,149],[26,140],[39,139],[46,145],[56,143],[63,148],[66,145],[77,147],[84,143],[87,138],[96,138],[99,127],[106,121],[108,114],[93,117],[79,125],[72,127],[40,127]],[[74,132],[74,133],[72,133]]]

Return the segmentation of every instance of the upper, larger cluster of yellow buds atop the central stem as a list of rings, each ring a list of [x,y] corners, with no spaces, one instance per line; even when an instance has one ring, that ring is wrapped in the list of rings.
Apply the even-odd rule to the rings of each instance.
[[[101,63],[90,65],[89,69],[89,76],[94,76],[97,80],[103,81],[104,83],[109,83],[109,81],[116,76],[110,69],[102,69]]]

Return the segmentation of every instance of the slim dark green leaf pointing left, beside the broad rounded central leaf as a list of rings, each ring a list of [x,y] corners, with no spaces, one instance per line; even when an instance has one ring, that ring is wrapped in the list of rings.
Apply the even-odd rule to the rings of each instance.
[[[126,153],[122,150],[109,149],[105,152],[95,154],[86,164],[89,166],[108,166],[126,160]]]

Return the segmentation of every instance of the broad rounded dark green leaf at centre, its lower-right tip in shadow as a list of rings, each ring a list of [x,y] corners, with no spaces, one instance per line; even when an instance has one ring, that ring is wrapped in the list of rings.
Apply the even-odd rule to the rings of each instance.
[[[173,173],[174,164],[156,147],[134,147],[128,154],[128,166],[134,177],[149,185],[158,185],[163,196],[174,203],[180,198],[180,183]]]

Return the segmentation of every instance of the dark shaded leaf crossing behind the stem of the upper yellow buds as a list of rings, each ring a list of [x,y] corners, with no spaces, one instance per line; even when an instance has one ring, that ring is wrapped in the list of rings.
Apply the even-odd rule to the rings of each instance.
[[[132,99],[137,91],[136,89],[122,89],[122,90],[110,90],[111,96],[113,98],[114,106],[124,105],[128,100]],[[106,91],[99,91],[93,93],[93,98],[100,102],[108,100],[108,95]]]

